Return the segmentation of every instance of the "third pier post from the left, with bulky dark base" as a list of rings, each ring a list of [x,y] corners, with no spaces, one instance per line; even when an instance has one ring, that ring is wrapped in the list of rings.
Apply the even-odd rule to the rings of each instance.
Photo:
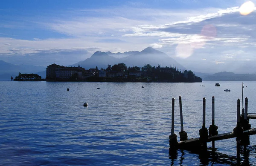
[[[205,127],[205,97],[203,98],[203,126],[199,130],[199,141],[203,145],[203,148],[207,148],[207,140],[209,140],[208,129]]]

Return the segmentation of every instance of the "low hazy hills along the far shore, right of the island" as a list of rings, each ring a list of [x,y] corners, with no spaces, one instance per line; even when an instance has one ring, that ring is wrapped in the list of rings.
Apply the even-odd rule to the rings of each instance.
[[[219,72],[202,78],[204,81],[256,81],[256,74],[235,74],[233,72]]]

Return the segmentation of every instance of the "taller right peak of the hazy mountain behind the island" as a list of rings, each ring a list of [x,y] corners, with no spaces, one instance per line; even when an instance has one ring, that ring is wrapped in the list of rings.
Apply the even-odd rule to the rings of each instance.
[[[150,64],[151,66],[170,67],[173,65],[181,70],[186,69],[180,63],[177,63],[172,57],[169,57],[166,53],[160,52],[152,47],[147,47],[141,52],[129,55],[128,57],[123,57],[120,62],[125,63],[126,66],[139,66],[143,67],[145,64]]]

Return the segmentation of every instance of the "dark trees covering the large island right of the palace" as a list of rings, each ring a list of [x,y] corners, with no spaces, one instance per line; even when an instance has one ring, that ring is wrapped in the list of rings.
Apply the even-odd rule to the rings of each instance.
[[[181,71],[176,67],[157,67],[146,64],[143,67],[133,66],[127,67],[125,63],[118,63],[113,66],[108,65],[106,72],[116,71],[123,73],[123,76],[116,76],[112,80],[120,81],[132,81],[132,82],[202,82],[201,77],[195,76],[195,74],[189,70]],[[138,73],[138,75],[132,75],[131,73]],[[111,80],[110,78],[108,78]]]

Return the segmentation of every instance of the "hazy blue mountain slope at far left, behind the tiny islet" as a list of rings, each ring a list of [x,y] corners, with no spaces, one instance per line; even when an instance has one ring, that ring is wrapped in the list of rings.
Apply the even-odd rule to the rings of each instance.
[[[45,71],[46,67],[33,65],[14,65],[0,60],[0,79],[11,79],[20,73],[36,73]]]

